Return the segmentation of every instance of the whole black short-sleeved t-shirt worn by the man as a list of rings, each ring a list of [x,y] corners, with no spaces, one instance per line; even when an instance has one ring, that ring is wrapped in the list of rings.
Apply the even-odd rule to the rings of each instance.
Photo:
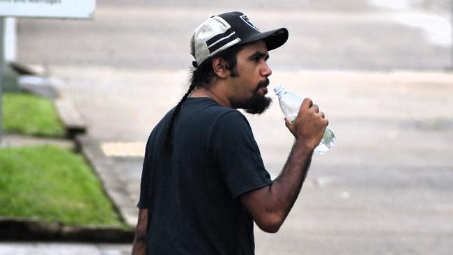
[[[254,254],[253,219],[238,196],[270,185],[247,119],[210,98],[187,98],[148,139],[139,208],[148,254]]]

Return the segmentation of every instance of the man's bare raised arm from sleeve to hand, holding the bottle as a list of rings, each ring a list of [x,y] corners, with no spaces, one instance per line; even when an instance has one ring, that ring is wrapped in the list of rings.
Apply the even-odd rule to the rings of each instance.
[[[240,200],[260,229],[275,233],[297,199],[312,160],[314,148],[323,137],[328,121],[312,100],[305,99],[294,123],[286,119],[286,127],[296,141],[282,172],[272,185],[247,192]]]

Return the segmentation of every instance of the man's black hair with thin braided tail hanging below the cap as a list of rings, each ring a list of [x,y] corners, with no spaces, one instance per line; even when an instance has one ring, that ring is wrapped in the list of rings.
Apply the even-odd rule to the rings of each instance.
[[[171,140],[175,118],[181,110],[181,105],[183,105],[183,102],[189,97],[190,93],[192,93],[192,91],[194,91],[197,86],[201,88],[209,88],[212,84],[213,78],[216,76],[213,69],[214,57],[222,57],[227,62],[227,69],[230,70],[231,77],[237,77],[238,73],[236,71],[236,55],[238,54],[240,49],[242,49],[242,46],[231,47],[230,49],[227,49],[216,56],[211,56],[210,58],[203,61],[203,63],[201,63],[201,65],[199,66],[194,64],[194,68],[192,68],[191,70],[189,89],[187,90],[183,98],[181,98],[181,101],[178,102],[178,105],[176,105],[173,114],[171,114],[170,122],[167,125],[167,141]]]

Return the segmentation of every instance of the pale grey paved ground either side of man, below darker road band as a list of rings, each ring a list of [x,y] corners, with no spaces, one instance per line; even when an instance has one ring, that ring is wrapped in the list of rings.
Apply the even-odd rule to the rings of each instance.
[[[135,224],[144,142],[183,95],[187,71],[54,67],[52,73],[89,125],[83,149]],[[273,70],[270,81],[270,88],[284,84],[320,105],[337,145],[314,156],[279,233],[256,228],[256,254],[450,254],[452,73]],[[246,116],[276,177],[293,137],[269,91],[270,110]]]

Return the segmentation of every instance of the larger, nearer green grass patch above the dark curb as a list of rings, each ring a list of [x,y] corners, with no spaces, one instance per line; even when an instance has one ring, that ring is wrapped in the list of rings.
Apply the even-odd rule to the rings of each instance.
[[[84,158],[54,146],[0,148],[0,215],[124,226]]]

